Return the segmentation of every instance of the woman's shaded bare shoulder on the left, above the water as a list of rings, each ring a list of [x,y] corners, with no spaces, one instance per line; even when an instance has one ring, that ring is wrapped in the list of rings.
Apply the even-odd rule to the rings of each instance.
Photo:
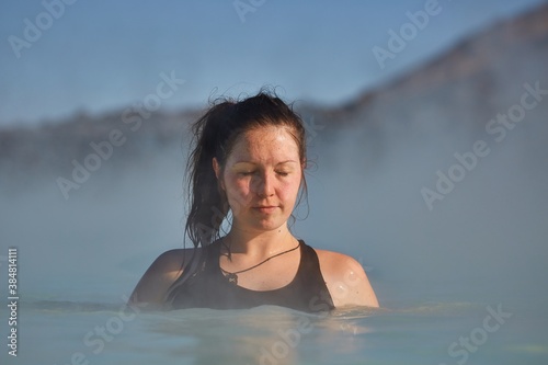
[[[160,254],[135,287],[130,304],[162,306],[171,284],[183,273],[195,252],[194,249],[174,249]]]

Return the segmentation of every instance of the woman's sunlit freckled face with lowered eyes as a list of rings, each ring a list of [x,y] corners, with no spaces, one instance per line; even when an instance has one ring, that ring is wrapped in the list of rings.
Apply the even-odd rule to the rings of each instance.
[[[225,168],[214,169],[240,229],[274,230],[287,223],[302,178],[299,149],[286,127],[243,133]]]

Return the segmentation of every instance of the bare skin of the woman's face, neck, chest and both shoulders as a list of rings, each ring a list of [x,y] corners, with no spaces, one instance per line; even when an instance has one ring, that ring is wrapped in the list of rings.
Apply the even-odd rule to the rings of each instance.
[[[304,163],[290,130],[276,126],[243,133],[225,166],[213,159],[212,168],[232,212],[232,226],[224,238],[230,244],[231,255],[219,258],[224,270],[249,269],[298,244],[287,219],[298,196]],[[357,261],[338,252],[316,252],[335,307],[378,307],[367,275]],[[181,262],[189,256],[192,254],[185,255],[184,250],[160,255],[137,284],[130,301],[162,305],[170,285],[181,274]],[[283,287],[295,277],[299,261],[299,251],[290,251],[238,274],[238,285],[254,290]]]

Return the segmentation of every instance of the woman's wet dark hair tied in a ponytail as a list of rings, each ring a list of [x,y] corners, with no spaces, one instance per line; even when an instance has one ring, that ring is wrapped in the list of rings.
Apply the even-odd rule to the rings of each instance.
[[[295,138],[301,167],[305,169],[307,161],[305,125],[300,116],[293,111],[293,105],[286,104],[274,92],[261,90],[256,95],[241,101],[216,100],[192,125],[194,147],[186,164],[190,210],[185,236],[194,248],[205,248],[220,238],[222,221],[230,210],[227,197],[215,175],[213,159],[216,158],[222,169],[238,137],[248,130],[266,126],[287,127]],[[307,185],[302,173],[297,205],[306,195]],[[171,294],[183,278],[187,277],[187,269],[184,270],[185,274],[171,286],[169,290]],[[172,296],[171,294],[169,296]]]

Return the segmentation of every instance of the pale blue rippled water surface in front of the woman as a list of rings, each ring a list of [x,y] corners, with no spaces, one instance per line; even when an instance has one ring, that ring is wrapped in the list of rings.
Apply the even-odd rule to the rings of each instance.
[[[20,355],[9,363],[546,364],[546,319],[502,307],[512,317],[489,320],[499,329],[488,332],[488,307],[496,311],[438,303],[330,315],[267,306],[135,315],[114,304],[43,301],[22,308]],[[460,337],[470,351],[457,346],[452,356]]]

